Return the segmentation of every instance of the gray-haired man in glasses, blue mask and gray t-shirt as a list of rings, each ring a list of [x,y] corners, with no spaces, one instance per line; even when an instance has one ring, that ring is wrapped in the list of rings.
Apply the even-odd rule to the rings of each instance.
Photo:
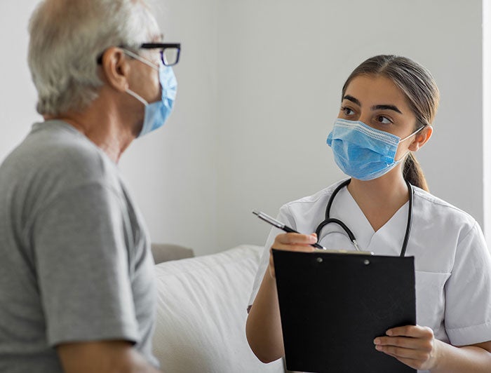
[[[35,123],[0,167],[0,371],[156,372],[153,259],[116,167],[173,106],[143,0],[45,0],[29,25]]]

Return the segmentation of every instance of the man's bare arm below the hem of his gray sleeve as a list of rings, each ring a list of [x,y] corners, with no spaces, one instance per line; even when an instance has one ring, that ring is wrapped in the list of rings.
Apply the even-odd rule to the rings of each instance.
[[[91,341],[56,347],[66,373],[156,373],[128,341]]]

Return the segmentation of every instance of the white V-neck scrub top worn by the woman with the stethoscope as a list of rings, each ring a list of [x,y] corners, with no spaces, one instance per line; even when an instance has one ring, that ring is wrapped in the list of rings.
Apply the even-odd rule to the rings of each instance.
[[[313,196],[283,205],[278,220],[302,233],[315,232],[339,183]],[[431,327],[435,337],[455,346],[491,341],[491,258],[480,226],[462,210],[414,187],[412,229],[406,256],[415,257],[417,324]],[[346,188],[335,196],[330,217],[347,224],[361,250],[375,255],[400,255],[408,222],[405,203],[378,231]],[[259,290],[269,262],[269,248],[279,229],[272,229],[264,247],[249,304]],[[337,224],[319,236],[328,249],[355,250]]]

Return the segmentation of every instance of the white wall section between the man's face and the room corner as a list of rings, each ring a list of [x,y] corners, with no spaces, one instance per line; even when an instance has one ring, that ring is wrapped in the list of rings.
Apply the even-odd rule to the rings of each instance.
[[[173,114],[121,158],[154,242],[217,251],[217,8],[215,0],[160,3],[167,41],[182,43]]]

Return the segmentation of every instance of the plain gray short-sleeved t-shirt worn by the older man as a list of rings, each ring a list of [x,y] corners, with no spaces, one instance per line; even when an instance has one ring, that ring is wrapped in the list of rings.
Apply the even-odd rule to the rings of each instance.
[[[0,166],[0,372],[61,372],[55,346],[124,339],[152,355],[154,261],[109,157],[36,123]]]

